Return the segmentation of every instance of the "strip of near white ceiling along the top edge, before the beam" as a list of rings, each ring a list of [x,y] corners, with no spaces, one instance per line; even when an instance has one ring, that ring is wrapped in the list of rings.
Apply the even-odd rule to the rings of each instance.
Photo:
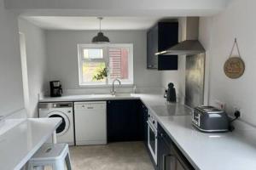
[[[4,0],[12,9],[85,9],[85,10],[221,10],[230,0]]]

